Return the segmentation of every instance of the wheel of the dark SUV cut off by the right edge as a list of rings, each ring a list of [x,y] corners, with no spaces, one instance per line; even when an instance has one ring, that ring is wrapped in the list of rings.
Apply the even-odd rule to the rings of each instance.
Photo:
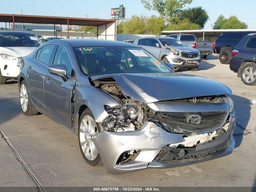
[[[246,85],[256,85],[256,64],[251,63],[242,68],[242,82]]]

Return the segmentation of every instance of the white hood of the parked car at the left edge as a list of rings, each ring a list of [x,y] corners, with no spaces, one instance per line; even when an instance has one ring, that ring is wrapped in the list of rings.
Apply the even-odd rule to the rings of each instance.
[[[14,57],[24,57],[29,55],[37,47],[0,47],[0,53],[14,56]]]

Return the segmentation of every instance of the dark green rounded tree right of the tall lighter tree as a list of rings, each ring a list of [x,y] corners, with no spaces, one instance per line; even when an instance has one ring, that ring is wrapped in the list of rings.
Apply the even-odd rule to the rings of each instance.
[[[187,18],[190,22],[198,24],[200,29],[204,28],[204,25],[209,19],[209,16],[202,7],[188,8],[179,12],[179,18],[184,20]]]

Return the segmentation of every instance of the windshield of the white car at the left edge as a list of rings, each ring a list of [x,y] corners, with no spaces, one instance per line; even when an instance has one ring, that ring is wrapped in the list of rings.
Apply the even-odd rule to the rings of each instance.
[[[39,47],[42,42],[30,34],[0,34],[1,47]]]

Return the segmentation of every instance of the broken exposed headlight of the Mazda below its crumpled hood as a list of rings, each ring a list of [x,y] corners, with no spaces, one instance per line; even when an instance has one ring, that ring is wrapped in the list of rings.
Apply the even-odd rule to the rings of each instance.
[[[131,100],[118,107],[105,106],[110,117],[105,120],[105,130],[114,132],[126,132],[139,130],[143,124],[144,104]]]

